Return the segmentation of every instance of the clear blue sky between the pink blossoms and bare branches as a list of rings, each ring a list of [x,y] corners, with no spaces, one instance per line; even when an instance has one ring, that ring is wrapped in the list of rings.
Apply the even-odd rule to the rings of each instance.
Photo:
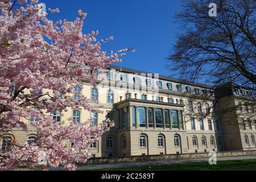
[[[49,14],[52,20],[74,20],[77,10],[88,13],[84,33],[98,30],[98,40],[113,36],[114,40],[102,45],[102,50],[117,51],[134,47],[134,53],[123,56],[121,67],[171,75],[164,68],[166,57],[180,30],[173,15],[180,11],[179,0],[41,0],[46,8],[58,7],[60,13]],[[172,75],[174,76],[174,75]],[[177,76],[176,76],[177,77]]]

